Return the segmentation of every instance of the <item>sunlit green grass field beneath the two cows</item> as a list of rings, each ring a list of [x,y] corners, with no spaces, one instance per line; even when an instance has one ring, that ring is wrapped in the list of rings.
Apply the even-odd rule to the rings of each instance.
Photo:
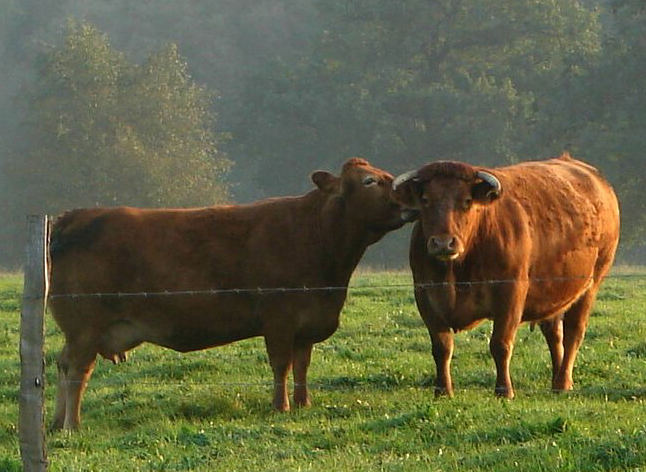
[[[523,326],[517,398],[495,398],[483,323],[456,336],[455,398],[434,399],[410,276],[362,273],[341,327],[315,347],[312,408],[271,410],[260,338],[190,354],[144,345],[125,364],[98,362],[81,431],[47,436],[50,470],[646,471],[646,276],[618,274],[600,294],[570,394],[550,392],[547,347]],[[22,470],[21,285],[0,276],[0,471]],[[46,326],[51,415],[62,338],[51,317]]]

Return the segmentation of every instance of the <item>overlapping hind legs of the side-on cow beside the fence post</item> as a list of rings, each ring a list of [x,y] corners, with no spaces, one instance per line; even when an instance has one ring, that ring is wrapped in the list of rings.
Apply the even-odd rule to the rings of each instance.
[[[81,400],[96,363],[96,350],[67,343],[58,361],[58,393],[52,429],[78,429]]]

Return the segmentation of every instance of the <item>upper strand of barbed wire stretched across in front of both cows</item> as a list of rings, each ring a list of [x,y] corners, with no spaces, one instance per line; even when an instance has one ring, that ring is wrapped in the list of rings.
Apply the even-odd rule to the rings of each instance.
[[[626,279],[626,278],[646,278],[646,274],[620,274],[605,277],[605,279]],[[365,289],[379,290],[402,290],[402,289],[428,289],[456,286],[458,288],[469,288],[481,285],[502,285],[516,283],[550,283],[550,282],[570,282],[573,280],[593,280],[590,276],[573,276],[573,277],[532,277],[528,279],[487,279],[487,280],[470,280],[470,281],[441,281],[441,282],[423,282],[423,283],[397,283],[397,284],[361,284],[361,285],[340,285],[340,286],[323,286],[323,287],[246,287],[246,288],[212,288],[201,290],[152,290],[137,292],[94,292],[94,293],[50,293],[49,299],[55,300],[60,298],[82,299],[82,298],[153,298],[153,297],[171,297],[171,296],[198,296],[198,295],[272,295],[272,294],[294,294],[294,293],[311,293],[311,292],[340,292],[356,291]]]

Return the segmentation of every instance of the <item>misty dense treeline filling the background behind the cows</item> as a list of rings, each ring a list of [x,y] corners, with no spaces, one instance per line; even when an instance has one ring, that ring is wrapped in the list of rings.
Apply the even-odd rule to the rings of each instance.
[[[301,193],[353,155],[396,173],[563,150],[618,189],[622,254],[639,254],[642,0],[0,8],[0,265],[20,263],[26,212]],[[403,263],[403,233],[379,259]]]

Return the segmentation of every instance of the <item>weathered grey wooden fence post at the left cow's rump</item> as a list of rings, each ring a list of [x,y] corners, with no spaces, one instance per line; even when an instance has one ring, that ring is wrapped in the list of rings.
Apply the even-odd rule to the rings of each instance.
[[[20,455],[26,472],[46,471],[45,306],[49,290],[47,216],[27,218],[27,254],[20,317]]]

